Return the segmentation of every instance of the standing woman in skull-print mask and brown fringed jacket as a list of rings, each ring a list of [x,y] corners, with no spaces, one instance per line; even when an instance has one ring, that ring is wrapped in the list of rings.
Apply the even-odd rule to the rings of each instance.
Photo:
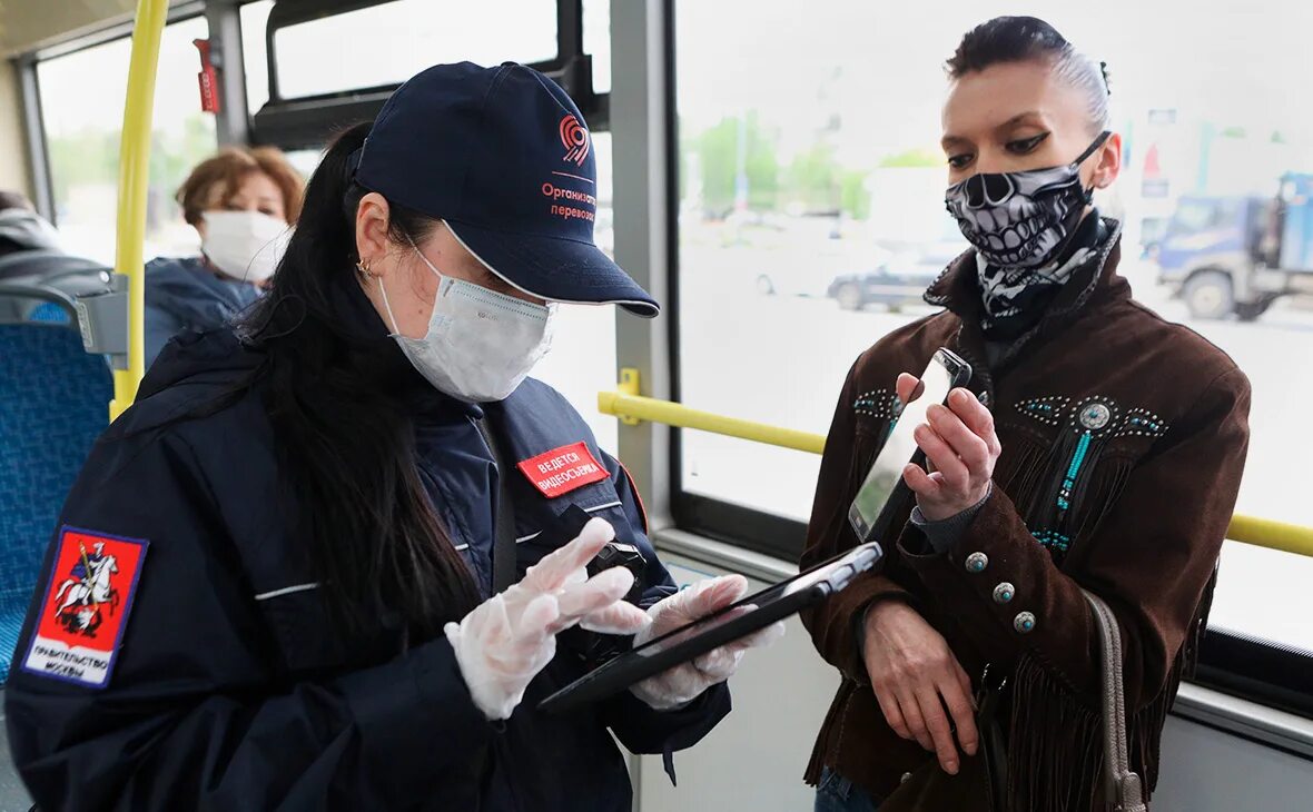
[[[817,809],[903,809],[909,774],[972,771],[995,794],[952,808],[1103,809],[1082,588],[1120,627],[1148,792],[1239,487],[1249,382],[1117,275],[1121,227],[1092,206],[1121,161],[1102,66],[1040,20],[1002,17],[964,37],[948,75],[945,202],[973,248],[926,294],[944,311],[848,374],[804,567],[857,543],[848,506],[932,353],[973,376],[915,429],[927,466],[892,497],[880,571],[805,615],[843,674],[807,781]]]

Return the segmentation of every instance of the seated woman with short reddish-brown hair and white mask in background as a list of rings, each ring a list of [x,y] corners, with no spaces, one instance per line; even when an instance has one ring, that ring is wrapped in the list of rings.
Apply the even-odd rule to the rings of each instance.
[[[177,202],[201,256],[146,265],[146,365],[183,329],[223,327],[256,300],[301,214],[305,182],[273,147],[225,148],[192,171]]]

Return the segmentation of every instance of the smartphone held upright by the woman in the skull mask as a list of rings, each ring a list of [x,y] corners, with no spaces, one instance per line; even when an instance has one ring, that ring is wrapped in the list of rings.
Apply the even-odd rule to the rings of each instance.
[[[848,509],[848,522],[857,533],[859,540],[871,540],[880,514],[898,483],[902,481],[903,468],[907,467],[909,462],[916,462],[918,457],[922,457],[913,430],[926,422],[930,404],[944,403],[948,400],[949,392],[956,387],[965,386],[970,379],[972,366],[969,363],[944,348],[935,350],[935,355],[920,374],[919,394],[913,396],[911,403],[903,405],[902,412],[894,420],[885,445],[876,454],[876,462],[871,464],[871,471],[861,487],[857,488],[857,496]]]

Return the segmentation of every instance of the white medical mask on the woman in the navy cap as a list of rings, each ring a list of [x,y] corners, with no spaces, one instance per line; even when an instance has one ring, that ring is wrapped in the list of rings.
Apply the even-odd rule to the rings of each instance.
[[[393,338],[440,392],[467,403],[506,400],[548,354],[555,304],[533,304],[453,279],[433,268],[419,248],[415,253],[441,279],[433,315],[423,338],[400,335],[387,287],[379,279]]]

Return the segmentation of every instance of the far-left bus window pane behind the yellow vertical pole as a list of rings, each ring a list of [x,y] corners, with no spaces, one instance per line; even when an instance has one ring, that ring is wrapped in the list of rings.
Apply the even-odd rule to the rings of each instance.
[[[214,152],[214,118],[201,112],[193,39],[209,35],[204,17],[164,29],[155,80],[146,253],[188,254],[200,237],[183,220],[173,193]],[[55,219],[68,251],[114,261],[118,147],[131,43],[116,39],[37,64],[42,126],[50,150]]]

